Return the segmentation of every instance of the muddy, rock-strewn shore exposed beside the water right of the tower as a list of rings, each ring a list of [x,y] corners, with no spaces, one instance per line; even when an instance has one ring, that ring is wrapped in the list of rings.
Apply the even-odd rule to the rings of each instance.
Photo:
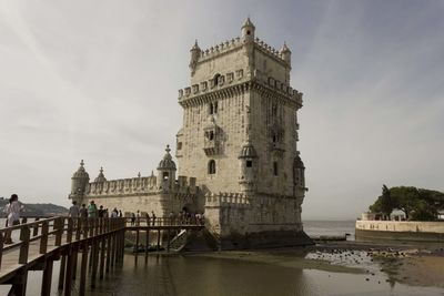
[[[365,280],[375,284],[387,282],[444,288],[444,245],[438,243],[343,241],[296,248],[223,251],[190,256],[362,274]]]

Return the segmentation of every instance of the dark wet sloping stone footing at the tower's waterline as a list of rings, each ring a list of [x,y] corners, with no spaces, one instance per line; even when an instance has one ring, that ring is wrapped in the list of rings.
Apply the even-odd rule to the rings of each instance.
[[[303,231],[268,231],[222,236],[220,249],[255,249],[313,245]]]

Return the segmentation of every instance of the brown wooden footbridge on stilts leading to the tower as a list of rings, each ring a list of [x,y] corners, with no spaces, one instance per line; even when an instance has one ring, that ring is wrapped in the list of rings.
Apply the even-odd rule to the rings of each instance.
[[[60,261],[59,290],[71,295],[72,285],[80,276],[79,295],[84,295],[87,274],[94,288],[98,276],[102,279],[123,262],[127,232],[135,236],[135,256],[140,246],[147,256],[150,235],[157,242],[154,249],[170,252],[176,234],[202,228],[202,223],[172,218],[37,217],[30,223],[23,218],[20,225],[0,229],[0,284],[12,285],[8,296],[22,296],[27,290],[28,271],[42,271],[41,295],[50,295],[53,262]],[[4,238],[11,232],[20,232],[20,238],[7,245]],[[141,233],[144,242],[140,239]]]

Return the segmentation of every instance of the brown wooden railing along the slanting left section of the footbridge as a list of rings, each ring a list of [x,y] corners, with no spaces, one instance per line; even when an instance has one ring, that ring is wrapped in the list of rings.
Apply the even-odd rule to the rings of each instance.
[[[27,217],[29,218],[29,217]],[[29,246],[32,242],[39,241],[38,254],[46,254],[49,242],[53,239],[53,247],[70,244],[77,241],[88,239],[101,234],[123,229],[125,227],[122,218],[72,218],[72,217],[36,217],[34,222],[0,229],[0,271],[3,254],[8,251],[19,249],[18,264],[27,264]],[[19,242],[8,244],[13,232],[20,232]],[[14,237],[17,238],[17,237]]]

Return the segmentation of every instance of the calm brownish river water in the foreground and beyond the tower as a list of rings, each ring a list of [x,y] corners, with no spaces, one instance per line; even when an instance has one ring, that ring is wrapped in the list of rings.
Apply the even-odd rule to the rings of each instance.
[[[305,222],[309,235],[354,233],[354,222]],[[408,286],[389,280],[380,266],[369,261],[375,275],[334,266],[321,268],[313,254],[266,251],[188,255],[125,254],[123,265],[87,295],[184,295],[184,296],[274,296],[274,295],[444,295],[435,287]],[[309,262],[309,263],[307,263]],[[53,295],[58,295],[58,263],[54,264]],[[27,295],[40,295],[41,272],[30,272]],[[78,283],[78,280],[77,280]],[[89,287],[89,285],[88,285]],[[8,287],[0,287],[7,295]],[[73,295],[78,295],[74,286]]]

